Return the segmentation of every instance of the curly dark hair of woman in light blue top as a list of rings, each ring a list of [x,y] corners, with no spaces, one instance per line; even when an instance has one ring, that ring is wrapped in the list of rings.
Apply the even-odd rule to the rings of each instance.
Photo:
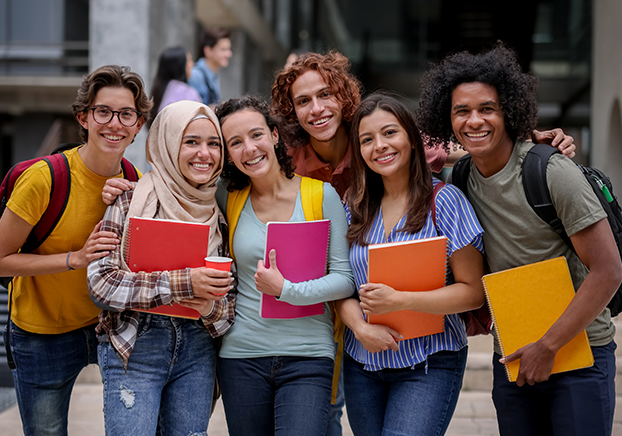
[[[232,98],[216,106],[215,112],[218,120],[220,121],[220,125],[222,126],[229,115],[245,109],[259,112],[266,120],[266,125],[270,131],[272,132],[276,129],[277,132],[279,132],[279,126],[276,120],[270,115],[270,106],[263,98],[258,96],[247,95],[242,98]],[[224,139],[225,144],[227,144],[227,138]],[[227,151],[227,148],[228,147],[225,147],[225,159],[227,160],[227,164],[223,168],[221,177],[229,182],[227,189],[229,192],[233,192],[244,189],[248,186],[250,184],[250,177],[240,171],[233,164],[233,162],[228,161],[229,152]],[[288,179],[293,178],[296,167],[294,166],[292,157],[287,154],[285,143],[283,142],[280,134],[278,142],[274,145],[274,152],[281,167],[281,171],[285,174],[285,177]]]

